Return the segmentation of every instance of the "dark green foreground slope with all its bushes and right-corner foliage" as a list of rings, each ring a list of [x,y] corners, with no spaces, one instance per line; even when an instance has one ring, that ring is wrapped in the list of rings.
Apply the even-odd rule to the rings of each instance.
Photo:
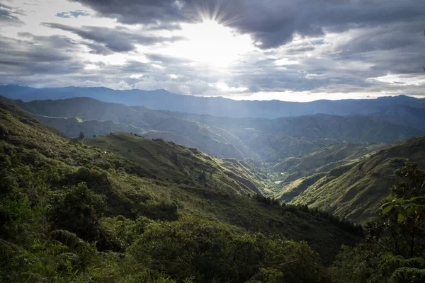
[[[423,282],[425,173],[413,164],[355,246],[363,229],[329,212],[215,190],[205,171],[162,180],[2,103],[0,119],[1,282]]]

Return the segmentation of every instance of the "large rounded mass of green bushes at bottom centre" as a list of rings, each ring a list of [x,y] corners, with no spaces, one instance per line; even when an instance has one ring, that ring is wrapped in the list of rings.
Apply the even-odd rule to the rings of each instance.
[[[222,224],[191,217],[147,224],[130,254],[152,270],[176,278],[193,276],[196,282],[268,282],[273,272],[279,275],[276,282],[321,279],[307,243],[239,235]]]

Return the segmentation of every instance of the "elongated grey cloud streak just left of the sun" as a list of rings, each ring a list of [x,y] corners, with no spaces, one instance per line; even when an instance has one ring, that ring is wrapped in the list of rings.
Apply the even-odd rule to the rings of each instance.
[[[60,30],[69,31],[79,35],[79,37],[86,40],[92,40],[97,44],[103,44],[106,48],[113,52],[129,52],[136,49],[136,44],[139,45],[155,45],[157,43],[164,42],[175,42],[183,40],[183,37],[159,37],[159,36],[147,36],[140,35],[134,30],[128,30],[127,28],[104,28],[95,26],[83,26],[81,28],[74,28],[69,25],[62,25],[60,23],[43,23],[43,25],[49,28],[57,28]],[[89,46],[90,47],[90,46]],[[103,50],[100,50],[97,46],[94,47],[94,52],[102,54]]]

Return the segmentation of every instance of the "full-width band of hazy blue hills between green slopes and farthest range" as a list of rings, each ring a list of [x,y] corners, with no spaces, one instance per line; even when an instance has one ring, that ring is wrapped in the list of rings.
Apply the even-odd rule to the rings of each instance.
[[[392,143],[424,134],[419,129],[363,116],[309,115],[275,120],[234,119],[149,110],[142,106],[128,107],[91,98],[35,100],[28,103],[21,100],[8,101],[36,115],[111,120],[116,124],[145,129],[147,132],[169,132],[186,139],[183,145],[195,145],[201,151],[219,158],[252,158],[276,163],[288,157],[302,157],[329,144],[343,141]],[[57,129],[62,130],[59,127]],[[65,130],[79,132],[78,128]],[[161,138],[172,141],[167,135],[169,134],[162,134]]]

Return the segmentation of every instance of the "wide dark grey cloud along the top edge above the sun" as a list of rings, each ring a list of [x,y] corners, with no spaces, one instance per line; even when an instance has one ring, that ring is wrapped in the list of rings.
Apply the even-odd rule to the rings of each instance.
[[[226,25],[252,35],[263,49],[301,36],[318,37],[325,30],[414,21],[425,5],[414,0],[72,0],[120,23],[180,23],[199,21],[199,11],[215,11]]]

